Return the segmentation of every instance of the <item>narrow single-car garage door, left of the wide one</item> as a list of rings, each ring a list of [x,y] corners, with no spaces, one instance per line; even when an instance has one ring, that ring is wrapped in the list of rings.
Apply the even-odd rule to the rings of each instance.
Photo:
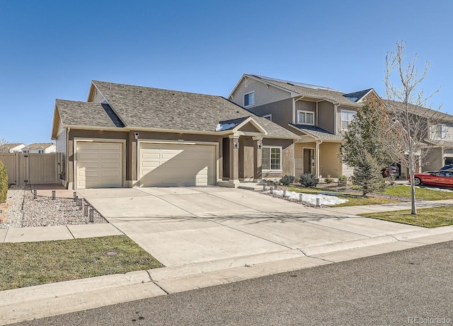
[[[122,187],[122,144],[77,142],[76,188]]]

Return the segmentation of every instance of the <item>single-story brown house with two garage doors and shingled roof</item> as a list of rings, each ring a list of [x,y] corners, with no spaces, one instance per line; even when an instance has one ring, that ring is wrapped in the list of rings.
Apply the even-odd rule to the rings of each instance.
[[[55,101],[52,139],[70,189],[236,187],[294,175],[297,135],[220,96],[92,81]]]

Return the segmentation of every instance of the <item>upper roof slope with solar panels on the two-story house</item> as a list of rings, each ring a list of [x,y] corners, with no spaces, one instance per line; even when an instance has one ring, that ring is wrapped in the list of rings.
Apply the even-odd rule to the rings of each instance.
[[[355,101],[352,101],[349,98],[343,96],[342,92],[328,87],[316,86],[307,83],[299,83],[297,81],[284,81],[281,79],[264,76],[256,75],[245,75],[245,76],[253,76],[254,78],[258,78],[261,81],[268,83],[270,85],[285,88],[287,91],[297,93],[298,95],[304,95],[306,98],[325,99],[333,103],[340,103],[340,105],[352,107],[362,106],[355,103]]]

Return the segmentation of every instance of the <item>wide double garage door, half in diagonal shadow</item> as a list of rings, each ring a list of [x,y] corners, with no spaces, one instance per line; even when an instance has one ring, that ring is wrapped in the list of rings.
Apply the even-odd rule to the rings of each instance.
[[[142,143],[139,147],[140,185],[215,185],[214,148],[208,145]]]

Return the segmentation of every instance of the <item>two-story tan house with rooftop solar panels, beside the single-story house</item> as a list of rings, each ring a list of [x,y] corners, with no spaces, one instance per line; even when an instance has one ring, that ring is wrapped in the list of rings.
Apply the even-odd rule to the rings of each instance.
[[[382,100],[372,88],[342,93],[322,86],[244,74],[229,100],[299,136],[294,146],[295,176],[352,175],[339,158],[342,132],[367,101]]]

